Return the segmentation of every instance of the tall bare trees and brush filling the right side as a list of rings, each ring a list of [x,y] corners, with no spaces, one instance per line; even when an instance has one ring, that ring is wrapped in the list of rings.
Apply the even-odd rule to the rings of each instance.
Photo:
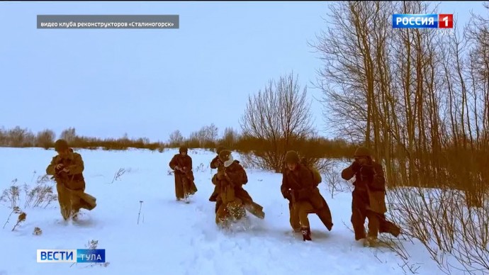
[[[464,271],[488,271],[488,18],[441,32],[393,29],[393,13],[442,11],[423,1],[331,5],[313,44],[325,114],[373,149],[390,187],[414,187],[391,193],[392,214],[444,271],[446,252]]]

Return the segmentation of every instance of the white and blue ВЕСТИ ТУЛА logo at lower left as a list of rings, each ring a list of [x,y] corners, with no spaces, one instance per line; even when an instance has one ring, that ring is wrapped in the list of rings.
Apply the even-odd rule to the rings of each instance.
[[[106,249],[38,249],[38,262],[104,263]]]

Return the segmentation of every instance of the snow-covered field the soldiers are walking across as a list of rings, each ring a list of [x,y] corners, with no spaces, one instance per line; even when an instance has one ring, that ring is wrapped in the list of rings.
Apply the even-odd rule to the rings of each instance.
[[[361,247],[349,222],[351,194],[331,198],[325,184],[320,189],[330,205],[335,226],[327,232],[310,215],[313,242],[294,237],[288,223],[288,203],[280,193],[281,175],[247,170],[245,189],[264,206],[266,218],[251,216],[252,228],[221,232],[215,225],[213,191],[208,164],[213,152],[192,150],[198,192],[190,204],[178,203],[168,162],[176,150],[80,150],[85,162],[86,193],[97,198],[93,211],[84,211],[78,224],[64,224],[57,202],[47,208],[23,209],[27,219],[15,231],[13,215],[0,230],[0,275],[33,274],[404,274],[403,262],[386,248]],[[45,174],[55,152],[38,148],[0,148],[0,191],[18,184],[35,184]],[[198,167],[198,168],[197,168]],[[120,168],[130,169],[116,181]],[[33,174],[35,172],[35,174]],[[112,182],[113,181],[113,182]],[[140,223],[138,213],[142,203]],[[23,206],[23,193],[21,194]],[[0,204],[3,227],[11,209]],[[42,235],[33,235],[35,227]],[[83,249],[98,240],[110,264],[38,264],[36,249]],[[423,248],[408,247],[419,274],[439,274]],[[89,269],[87,269],[87,267]]]

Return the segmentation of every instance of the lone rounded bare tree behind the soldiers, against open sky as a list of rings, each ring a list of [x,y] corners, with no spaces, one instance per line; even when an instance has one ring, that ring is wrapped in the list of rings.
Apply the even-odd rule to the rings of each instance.
[[[262,142],[254,156],[248,156],[249,164],[281,172],[283,157],[293,141],[313,135],[306,95],[307,87],[301,92],[297,78],[288,74],[277,82],[270,80],[264,91],[249,96],[240,120],[242,134]]]

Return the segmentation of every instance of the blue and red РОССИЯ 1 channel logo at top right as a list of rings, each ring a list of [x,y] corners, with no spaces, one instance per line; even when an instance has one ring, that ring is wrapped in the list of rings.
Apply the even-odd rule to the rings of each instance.
[[[393,28],[454,28],[453,14],[401,14],[392,15]]]

